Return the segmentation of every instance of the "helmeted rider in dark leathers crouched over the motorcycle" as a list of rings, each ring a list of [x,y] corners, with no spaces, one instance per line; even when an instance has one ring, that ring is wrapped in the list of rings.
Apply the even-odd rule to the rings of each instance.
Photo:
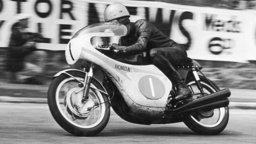
[[[121,37],[119,44],[126,46],[117,51],[119,55],[135,55],[143,51],[149,52],[150,60],[178,87],[176,100],[187,98],[188,89],[172,64],[182,64],[187,60],[187,52],[181,44],[177,44],[156,26],[147,20],[130,22],[130,13],[120,3],[108,5],[104,12],[105,22],[124,24],[126,36]],[[112,47],[113,48],[113,47]]]

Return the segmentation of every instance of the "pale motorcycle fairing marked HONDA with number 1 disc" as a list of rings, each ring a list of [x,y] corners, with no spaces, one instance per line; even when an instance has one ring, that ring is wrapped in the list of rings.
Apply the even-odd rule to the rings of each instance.
[[[112,76],[123,96],[126,93],[141,106],[165,107],[171,81],[154,65],[125,64],[100,53],[91,44],[90,39],[94,36],[111,37],[114,34],[90,33],[71,39],[65,53],[68,64],[73,65],[78,59],[93,62]]]

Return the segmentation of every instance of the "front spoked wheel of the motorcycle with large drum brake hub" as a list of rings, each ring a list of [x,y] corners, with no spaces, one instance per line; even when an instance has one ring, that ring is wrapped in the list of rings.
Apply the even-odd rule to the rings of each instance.
[[[82,72],[69,73],[84,81]],[[48,105],[56,122],[67,132],[76,136],[93,136],[101,132],[108,123],[110,104],[108,97],[93,79],[86,101],[82,101],[84,89],[76,79],[61,74],[53,79],[48,90]],[[102,90],[104,91],[104,90]],[[105,103],[104,103],[105,102]]]

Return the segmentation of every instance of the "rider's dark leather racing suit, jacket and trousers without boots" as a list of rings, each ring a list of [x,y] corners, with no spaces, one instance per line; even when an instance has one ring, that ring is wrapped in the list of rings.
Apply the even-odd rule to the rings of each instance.
[[[187,60],[187,52],[181,44],[177,44],[156,26],[147,20],[137,20],[129,23],[130,33],[121,37],[119,44],[126,47],[126,54],[149,53],[153,64],[159,68],[174,84],[177,77],[173,77],[173,65],[183,64]],[[179,76],[180,78],[180,76]]]

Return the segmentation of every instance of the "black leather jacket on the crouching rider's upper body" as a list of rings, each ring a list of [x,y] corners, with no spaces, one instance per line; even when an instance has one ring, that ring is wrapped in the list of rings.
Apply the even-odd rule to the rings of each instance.
[[[143,51],[148,52],[152,48],[158,47],[173,47],[179,45],[156,28],[147,20],[137,20],[131,22],[130,33],[127,36],[122,36],[119,44],[126,47],[127,54],[140,54]]]

